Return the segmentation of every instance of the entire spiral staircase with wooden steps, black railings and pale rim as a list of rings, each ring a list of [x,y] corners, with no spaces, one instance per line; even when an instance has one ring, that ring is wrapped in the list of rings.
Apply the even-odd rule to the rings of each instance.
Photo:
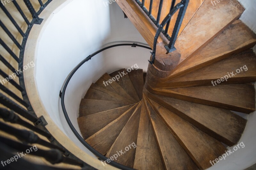
[[[186,2],[116,1],[152,55],[147,73],[123,68],[92,83],[77,118],[83,138],[67,116],[65,90],[60,91],[68,125],[99,160],[56,128],[37,91],[29,89],[36,89],[33,71],[1,83],[1,160],[32,145],[38,151],[0,169],[207,169],[239,146],[247,123],[243,115],[256,110],[256,35],[239,19],[245,9],[237,0]],[[62,3],[0,3],[1,80],[23,71],[23,60],[35,60],[28,53],[38,43],[33,36]]]

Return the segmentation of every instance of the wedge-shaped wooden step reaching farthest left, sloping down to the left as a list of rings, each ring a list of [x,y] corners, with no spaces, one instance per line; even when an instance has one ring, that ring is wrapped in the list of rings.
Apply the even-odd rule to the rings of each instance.
[[[91,115],[78,117],[77,122],[84,139],[89,138],[100,129],[120,117],[124,112],[130,109],[134,104],[119,107]]]

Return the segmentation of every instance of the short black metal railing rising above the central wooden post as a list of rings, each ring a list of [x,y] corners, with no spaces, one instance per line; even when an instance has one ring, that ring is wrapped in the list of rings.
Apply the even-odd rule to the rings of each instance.
[[[181,26],[181,23],[182,23],[183,18],[185,16],[189,0],[181,0],[181,2],[176,4],[176,5],[175,5],[176,0],[172,0],[170,12],[164,18],[164,20],[162,21],[161,24],[159,24],[159,22],[160,22],[161,13],[162,13],[163,0],[159,1],[159,7],[158,7],[158,13],[157,13],[157,18],[156,19],[152,16],[153,0],[150,0],[149,11],[146,9],[146,7],[144,5],[145,0],[142,0],[141,2],[140,2],[140,0],[135,0],[135,1],[140,5],[142,10],[148,15],[148,17],[153,21],[153,23],[158,27],[158,29],[156,31],[156,36],[155,36],[155,39],[154,39],[154,48],[153,48],[153,51],[151,52],[152,58],[151,58],[151,61],[149,61],[150,64],[154,64],[155,57],[156,57],[156,43],[157,43],[157,39],[158,39],[159,35],[161,34],[161,32],[170,41],[168,46],[164,46],[165,49],[167,50],[167,53],[170,53],[170,52],[176,50],[176,48],[174,47],[174,44],[175,44],[175,41],[177,39],[178,33],[180,31],[180,26]],[[171,18],[174,15],[174,13],[177,12],[179,9],[180,9],[180,11],[179,11],[178,17],[176,19],[176,23],[175,23],[173,31],[172,31],[172,36],[170,37],[168,35],[168,31],[169,31],[169,26],[170,26],[170,23],[171,23]],[[165,25],[166,25],[166,27],[164,29]]]

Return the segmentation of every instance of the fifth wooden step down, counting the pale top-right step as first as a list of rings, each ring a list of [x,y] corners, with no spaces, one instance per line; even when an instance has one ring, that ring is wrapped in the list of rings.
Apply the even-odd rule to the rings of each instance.
[[[229,146],[235,145],[239,141],[247,122],[229,110],[154,95],[149,92],[147,96]]]

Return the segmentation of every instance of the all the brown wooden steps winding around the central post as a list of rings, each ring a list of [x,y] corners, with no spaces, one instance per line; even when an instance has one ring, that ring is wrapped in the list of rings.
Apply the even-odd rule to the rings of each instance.
[[[117,3],[153,48],[155,35],[145,27],[151,21],[140,5]],[[150,8],[149,1],[140,3]],[[82,136],[109,161],[134,169],[207,169],[239,142],[247,120],[235,112],[255,110],[256,36],[238,19],[244,8],[235,0],[213,7],[190,1],[188,11],[176,51],[166,53],[160,35],[147,75],[141,69],[106,73],[81,100]],[[136,148],[126,150],[133,142]]]

